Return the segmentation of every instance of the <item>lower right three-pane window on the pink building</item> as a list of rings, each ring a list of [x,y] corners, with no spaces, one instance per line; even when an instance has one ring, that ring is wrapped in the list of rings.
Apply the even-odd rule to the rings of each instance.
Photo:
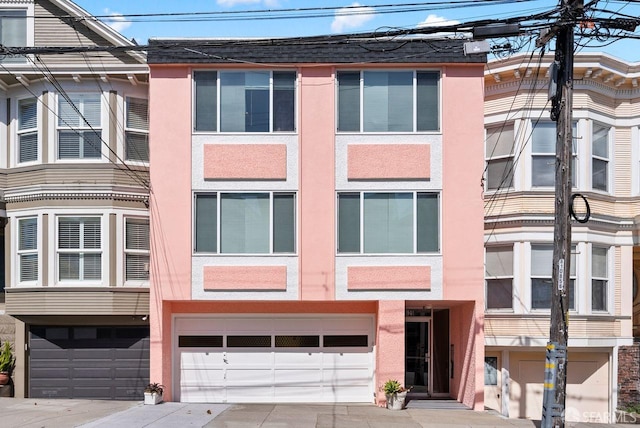
[[[437,193],[338,194],[338,253],[437,252],[439,227]]]

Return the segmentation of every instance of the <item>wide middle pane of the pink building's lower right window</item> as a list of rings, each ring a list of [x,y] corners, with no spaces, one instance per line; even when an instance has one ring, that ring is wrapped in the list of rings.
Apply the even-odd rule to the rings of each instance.
[[[364,194],[364,252],[413,252],[413,195]]]

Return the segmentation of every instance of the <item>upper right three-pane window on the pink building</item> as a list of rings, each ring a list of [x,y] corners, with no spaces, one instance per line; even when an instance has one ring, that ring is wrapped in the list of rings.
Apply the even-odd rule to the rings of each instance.
[[[438,131],[439,81],[437,71],[340,71],[338,131]]]

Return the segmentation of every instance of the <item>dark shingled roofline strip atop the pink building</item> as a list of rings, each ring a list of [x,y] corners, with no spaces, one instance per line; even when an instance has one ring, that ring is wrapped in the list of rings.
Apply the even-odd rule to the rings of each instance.
[[[427,37],[275,39],[150,39],[148,64],[484,64],[465,56],[465,40]]]

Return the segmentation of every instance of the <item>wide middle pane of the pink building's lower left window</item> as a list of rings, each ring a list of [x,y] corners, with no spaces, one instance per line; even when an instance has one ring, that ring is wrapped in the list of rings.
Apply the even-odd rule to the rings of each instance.
[[[220,252],[269,252],[269,195],[222,194]]]

